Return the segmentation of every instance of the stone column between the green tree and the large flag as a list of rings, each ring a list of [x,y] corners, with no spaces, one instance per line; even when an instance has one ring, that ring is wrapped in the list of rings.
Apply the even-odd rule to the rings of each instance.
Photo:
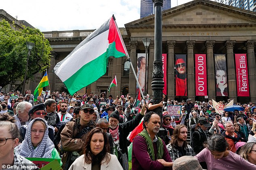
[[[55,67],[55,57],[57,56],[57,53],[55,51],[51,52],[51,61],[50,61],[50,68],[48,69],[48,79],[50,84],[50,90],[55,91],[59,89],[55,89],[55,82],[56,82],[56,74],[53,71],[53,68]],[[46,87],[47,89],[47,87]]]

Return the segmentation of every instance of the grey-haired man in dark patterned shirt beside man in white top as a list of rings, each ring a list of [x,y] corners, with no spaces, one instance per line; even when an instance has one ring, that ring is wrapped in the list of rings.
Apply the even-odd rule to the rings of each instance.
[[[48,125],[54,127],[56,133],[61,126],[60,119],[56,111],[56,101],[49,98],[44,102],[44,105],[47,112],[47,115],[44,116],[44,119],[47,121]]]

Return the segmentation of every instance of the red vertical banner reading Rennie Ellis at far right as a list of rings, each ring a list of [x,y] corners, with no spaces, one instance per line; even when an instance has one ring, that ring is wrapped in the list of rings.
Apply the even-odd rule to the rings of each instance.
[[[237,96],[250,96],[248,83],[248,67],[246,54],[235,54],[235,70],[237,74]]]

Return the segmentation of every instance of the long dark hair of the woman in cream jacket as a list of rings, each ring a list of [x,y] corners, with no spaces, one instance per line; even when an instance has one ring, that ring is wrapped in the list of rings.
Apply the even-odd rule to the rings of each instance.
[[[101,133],[101,134],[103,134],[103,137],[104,137],[103,150],[99,154],[97,154],[96,156],[92,154],[92,151],[91,151],[91,148],[90,148],[90,141],[91,141],[92,135],[94,133]],[[96,127],[94,129],[92,129],[88,133],[85,144],[84,144],[84,161],[87,164],[90,164],[90,163],[93,164],[94,162],[103,163],[101,161],[104,160],[104,158],[106,158],[105,163],[109,163],[110,155],[107,154],[107,153],[109,153],[109,141],[107,139],[106,133],[100,127]]]

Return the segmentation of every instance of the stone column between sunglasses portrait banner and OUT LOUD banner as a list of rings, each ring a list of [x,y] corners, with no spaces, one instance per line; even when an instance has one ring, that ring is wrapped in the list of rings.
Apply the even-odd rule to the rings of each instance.
[[[187,95],[195,101],[195,70],[194,70],[194,50],[195,41],[187,41]]]

